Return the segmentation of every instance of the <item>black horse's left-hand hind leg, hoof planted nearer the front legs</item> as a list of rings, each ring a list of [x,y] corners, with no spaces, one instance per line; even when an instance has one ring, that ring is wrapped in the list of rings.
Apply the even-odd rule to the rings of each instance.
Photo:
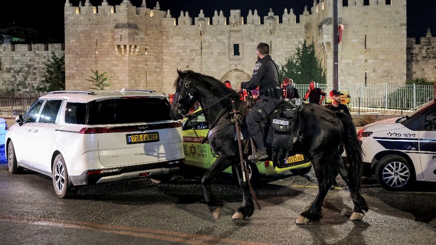
[[[322,161],[320,158],[312,159],[313,169],[316,178],[318,179],[318,195],[310,206],[309,210],[301,213],[300,217],[295,221],[297,224],[305,224],[309,221],[318,221],[321,218],[321,204],[327,195],[330,186],[332,186],[329,177],[327,161]]]

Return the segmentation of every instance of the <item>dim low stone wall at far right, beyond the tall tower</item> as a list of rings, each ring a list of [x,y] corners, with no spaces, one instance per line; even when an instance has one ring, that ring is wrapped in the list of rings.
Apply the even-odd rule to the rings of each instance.
[[[407,39],[407,79],[425,78],[433,81],[436,77],[436,37],[432,37],[430,30],[427,35],[419,39]]]

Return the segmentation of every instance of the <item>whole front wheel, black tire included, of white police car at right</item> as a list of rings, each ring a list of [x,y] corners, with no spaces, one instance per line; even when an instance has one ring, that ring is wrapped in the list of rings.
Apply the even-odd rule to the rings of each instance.
[[[384,189],[397,191],[406,189],[413,182],[415,174],[404,157],[387,155],[375,167],[375,177]]]

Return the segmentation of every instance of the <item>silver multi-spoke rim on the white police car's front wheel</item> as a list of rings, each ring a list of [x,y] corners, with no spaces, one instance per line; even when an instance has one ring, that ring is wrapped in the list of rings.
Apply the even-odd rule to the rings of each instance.
[[[391,162],[383,168],[382,177],[388,186],[399,188],[409,181],[410,171],[402,162]]]

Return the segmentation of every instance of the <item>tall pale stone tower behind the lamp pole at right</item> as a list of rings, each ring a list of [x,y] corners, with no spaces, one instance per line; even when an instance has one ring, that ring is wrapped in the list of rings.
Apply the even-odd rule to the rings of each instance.
[[[327,68],[327,81],[332,82],[332,6],[321,1],[311,9],[306,28],[318,44],[317,53]],[[406,1],[339,1],[339,24],[344,25],[339,51],[339,82],[368,84],[402,84],[406,80]],[[310,35],[312,34],[312,35]],[[365,38],[366,36],[366,38]]]

